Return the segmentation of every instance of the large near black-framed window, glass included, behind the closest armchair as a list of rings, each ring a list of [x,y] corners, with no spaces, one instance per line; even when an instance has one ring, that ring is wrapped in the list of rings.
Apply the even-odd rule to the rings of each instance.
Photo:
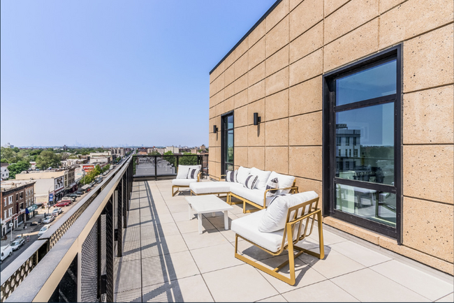
[[[400,241],[400,45],[324,76],[324,213]]]

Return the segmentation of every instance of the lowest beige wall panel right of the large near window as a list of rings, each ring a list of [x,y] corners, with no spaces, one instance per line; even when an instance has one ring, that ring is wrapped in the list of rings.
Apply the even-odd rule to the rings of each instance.
[[[403,205],[403,244],[452,263],[453,205],[407,197]]]

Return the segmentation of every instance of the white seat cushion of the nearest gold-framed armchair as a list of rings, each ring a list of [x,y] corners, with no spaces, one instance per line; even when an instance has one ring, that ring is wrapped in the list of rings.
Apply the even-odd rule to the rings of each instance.
[[[282,244],[284,229],[276,232],[258,231],[258,224],[261,222],[265,212],[266,209],[262,209],[259,212],[254,212],[247,216],[243,216],[242,218],[233,220],[232,230],[245,239],[262,246],[264,249],[268,249],[272,252],[279,251]]]

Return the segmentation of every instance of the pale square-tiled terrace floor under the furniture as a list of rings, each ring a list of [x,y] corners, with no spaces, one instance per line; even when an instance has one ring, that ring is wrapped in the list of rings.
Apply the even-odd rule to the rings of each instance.
[[[116,302],[454,301],[452,276],[328,226],[325,259],[300,256],[297,282],[289,286],[234,257],[235,234],[224,230],[221,212],[203,218],[199,235],[196,217],[188,220],[186,194],[172,197],[170,190],[170,180],[133,184],[124,256],[115,263]],[[240,216],[235,205],[230,220]],[[316,239],[311,235],[304,246],[316,247]],[[244,241],[239,247],[271,266],[286,258],[270,258]]]

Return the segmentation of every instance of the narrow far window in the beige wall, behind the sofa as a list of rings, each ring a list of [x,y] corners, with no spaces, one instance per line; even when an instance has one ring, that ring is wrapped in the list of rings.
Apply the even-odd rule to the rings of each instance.
[[[224,114],[221,125],[221,175],[233,170],[233,112]]]

